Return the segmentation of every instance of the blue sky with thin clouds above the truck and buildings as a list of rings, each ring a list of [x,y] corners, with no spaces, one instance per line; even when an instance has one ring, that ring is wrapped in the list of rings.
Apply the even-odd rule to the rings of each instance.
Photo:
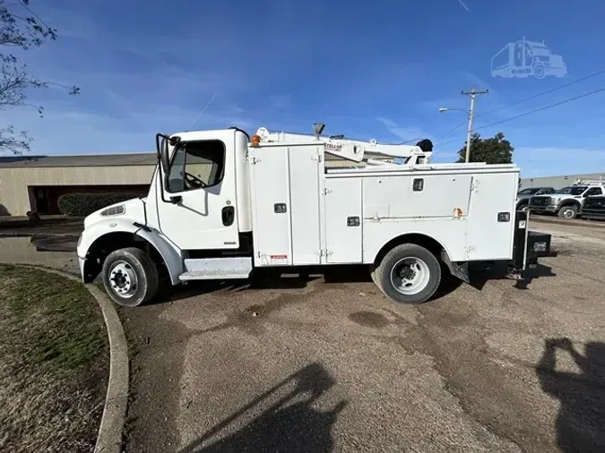
[[[142,152],[155,132],[239,125],[396,142],[428,137],[436,161],[465,140],[461,90],[489,89],[476,127],[504,132],[524,176],[605,173],[605,91],[484,127],[605,87],[605,74],[514,107],[519,99],[605,69],[602,0],[395,2],[118,2],[32,0],[59,39],[20,55],[40,78],[82,94],[36,90],[45,107],[0,112],[28,129],[35,154]],[[497,78],[507,43],[542,41],[565,78]],[[212,103],[203,111],[209,100]],[[491,110],[504,107],[493,114]]]

